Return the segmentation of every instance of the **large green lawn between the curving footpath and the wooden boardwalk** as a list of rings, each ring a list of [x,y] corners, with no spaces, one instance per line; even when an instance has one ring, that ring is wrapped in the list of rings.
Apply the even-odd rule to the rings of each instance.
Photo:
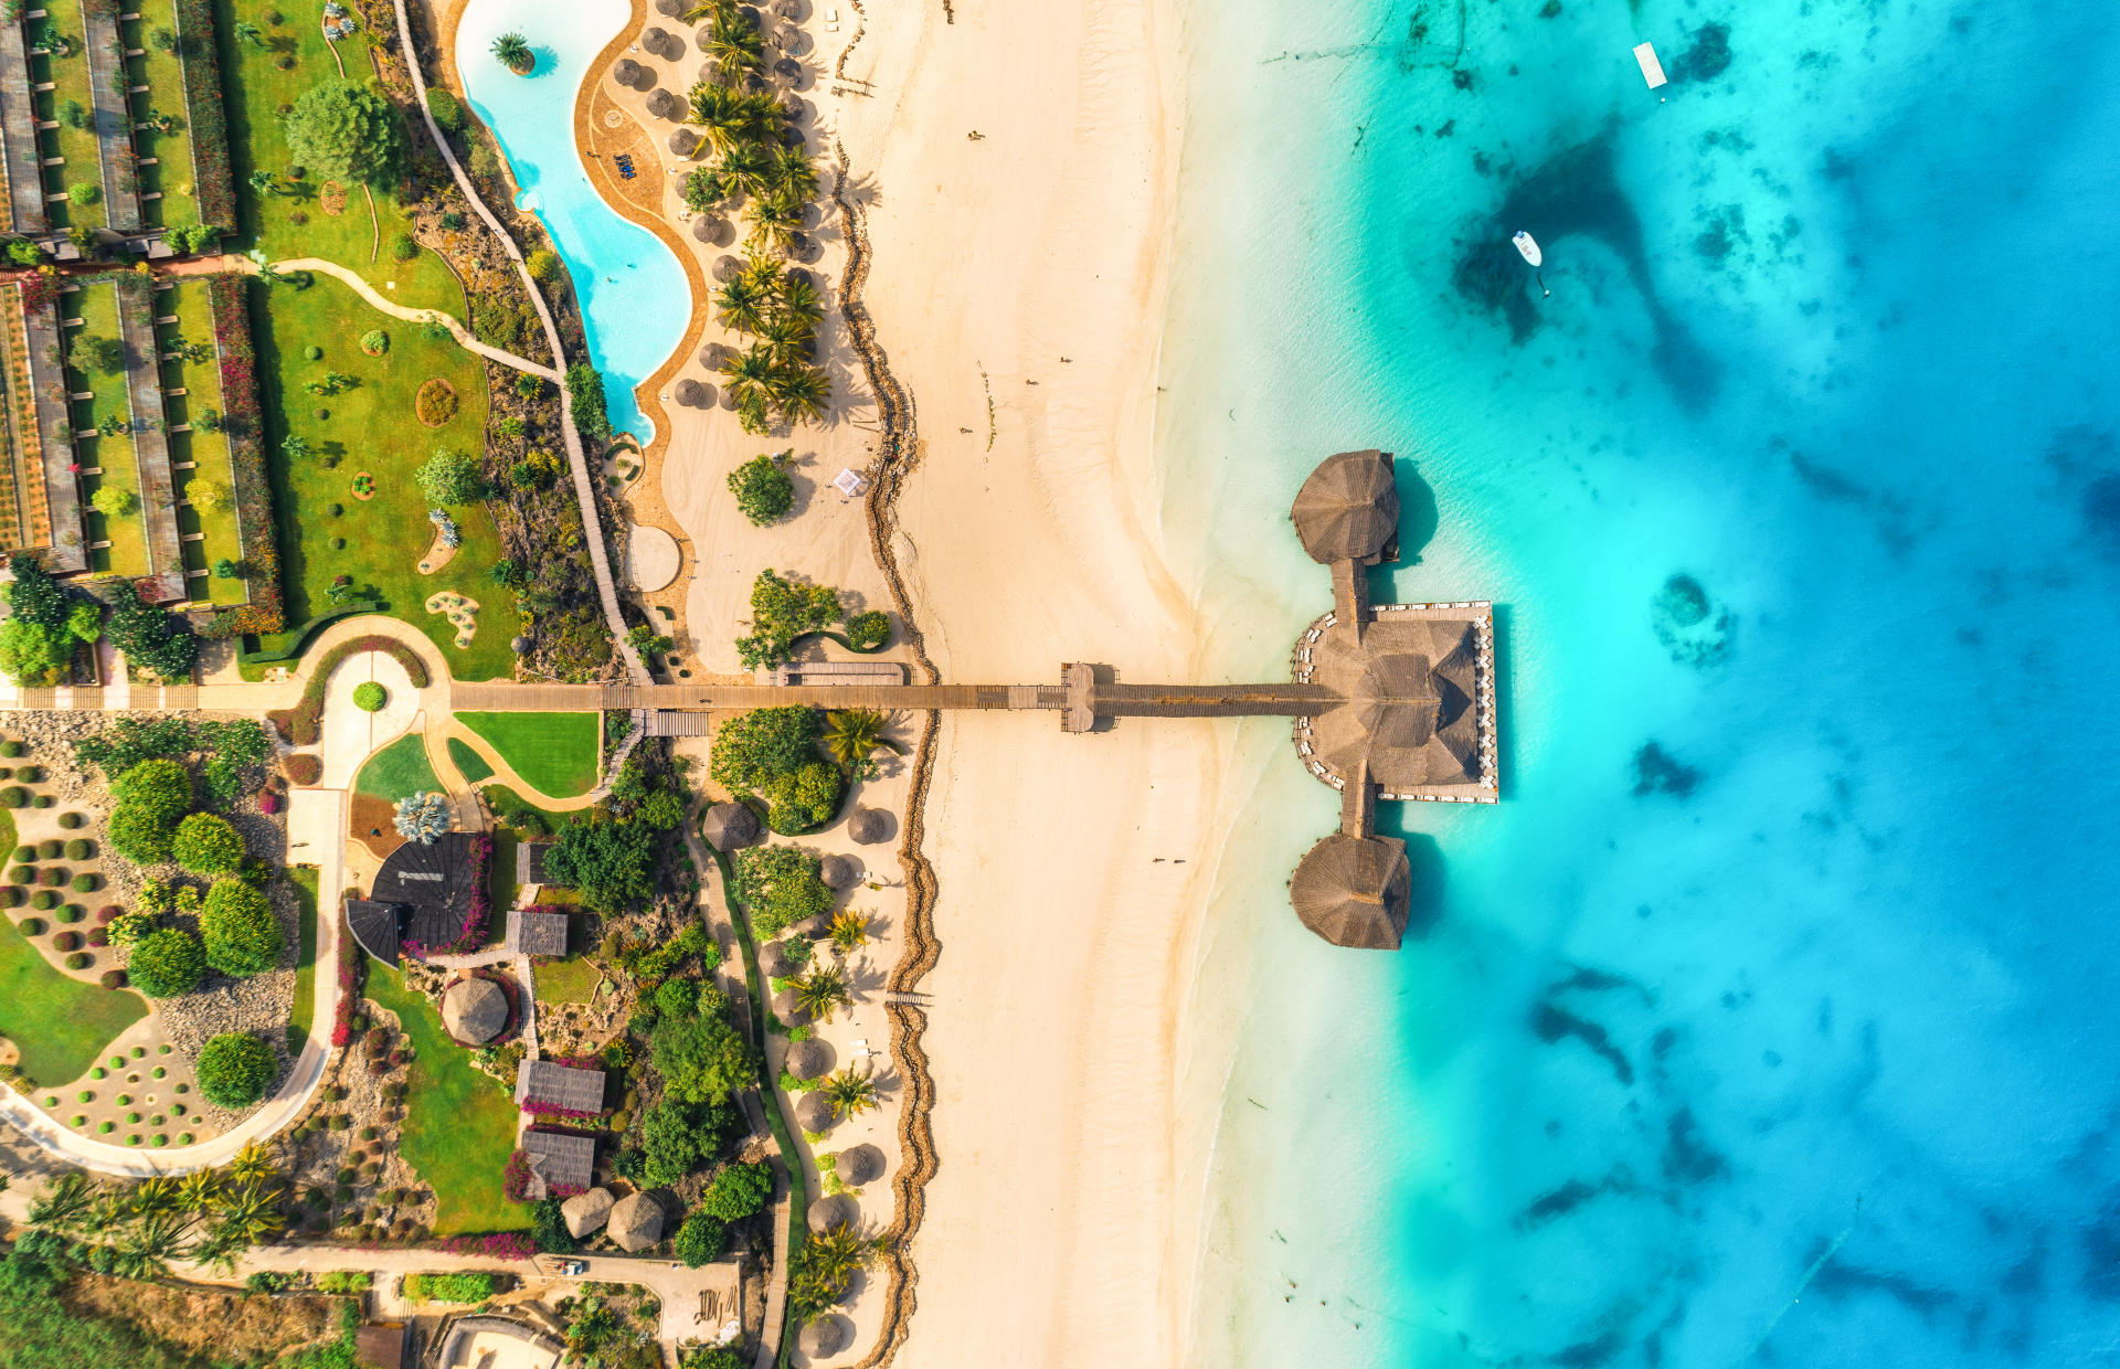
[[[513,595],[488,574],[500,559],[500,534],[483,504],[449,509],[464,534],[456,557],[437,574],[420,574],[435,536],[416,475],[437,447],[479,454],[485,445],[485,367],[456,345],[420,337],[420,328],[377,314],[348,286],[318,275],[307,290],[250,286],[250,328],[259,354],[265,405],[265,454],[280,526],[280,581],[286,621],[301,623],[331,606],[337,574],[350,574],[363,598],[432,638],[458,680],[490,680],[515,670]],[[390,335],[384,356],[367,356],[360,337]],[[305,348],[320,348],[307,358]],[[326,371],[354,386],[312,394]],[[456,388],[456,417],[428,428],[413,415],[420,386],[441,377]],[[322,413],[324,417],[318,417]],[[286,437],[303,439],[312,456],[290,460]],[[354,477],[375,477],[375,498],[354,498]],[[333,509],[339,513],[333,515]],[[333,547],[343,540],[346,547]],[[477,602],[479,632],[456,644],[456,627],[426,610],[432,593],[454,589]]]

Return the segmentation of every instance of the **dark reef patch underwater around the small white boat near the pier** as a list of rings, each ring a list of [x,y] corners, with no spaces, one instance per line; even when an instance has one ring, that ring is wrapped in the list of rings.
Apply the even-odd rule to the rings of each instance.
[[[1450,273],[1456,292],[1509,322],[1509,337],[1526,341],[1539,328],[1539,312],[1531,295],[1531,269],[1516,254],[1509,237],[1529,227],[1548,252],[1554,244],[1584,235],[1596,237],[1626,263],[1628,280],[1641,292],[1656,328],[1649,360],[1688,409],[1700,411],[1713,403],[1721,386],[1721,362],[1685,328],[1685,322],[1664,307],[1649,271],[1643,246],[1641,216],[1635,201],[1620,189],[1611,161],[1611,134],[1601,134],[1554,155],[1535,172],[1520,176],[1492,218],[1469,227],[1467,242]]]

